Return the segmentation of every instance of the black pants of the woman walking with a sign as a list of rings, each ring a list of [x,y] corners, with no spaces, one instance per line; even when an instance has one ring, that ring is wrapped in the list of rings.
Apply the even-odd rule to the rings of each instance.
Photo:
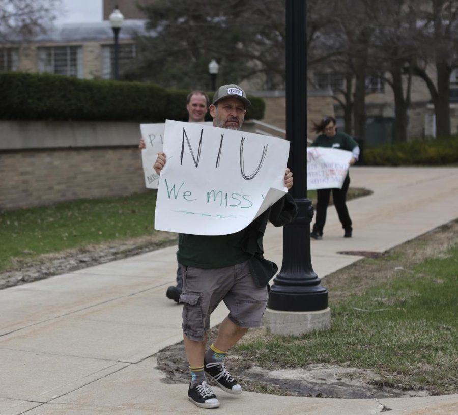
[[[350,186],[350,176],[347,174],[347,177],[344,180],[344,184],[341,189],[319,189],[317,190],[317,211],[316,211],[316,222],[313,225],[313,232],[323,235],[323,228],[326,223],[326,211],[329,205],[329,198],[332,191],[332,199],[334,201],[335,209],[339,216],[339,220],[342,224],[342,228],[346,231],[352,230],[352,219],[348,214],[347,209],[347,191]]]

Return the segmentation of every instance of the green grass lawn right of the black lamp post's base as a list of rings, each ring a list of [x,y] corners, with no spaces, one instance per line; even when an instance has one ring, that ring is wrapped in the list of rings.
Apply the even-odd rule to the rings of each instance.
[[[409,253],[364,259],[364,279],[351,294],[349,280],[331,276],[331,329],[300,337],[260,334],[239,343],[238,354],[255,359],[265,369],[296,368],[326,363],[370,369],[383,385],[398,389],[427,389],[433,394],[458,392],[458,243],[413,266]],[[405,258],[404,258],[405,257]],[[378,273],[394,270],[392,278]],[[372,270],[367,272],[368,270]],[[371,273],[372,272],[372,273]],[[360,273],[360,275],[358,275]],[[356,275],[356,276],[355,276]],[[373,281],[371,281],[373,280]],[[331,282],[331,281],[329,281]],[[327,278],[323,280],[327,286]],[[336,292],[334,297],[331,295]],[[253,357],[255,356],[255,357]]]

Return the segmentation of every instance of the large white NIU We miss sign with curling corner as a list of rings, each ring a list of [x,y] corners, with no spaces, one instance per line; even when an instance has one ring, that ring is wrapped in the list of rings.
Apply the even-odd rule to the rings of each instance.
[[[155,228],[226,235],[245,228],[286,192],[290,143],[167,120]]]

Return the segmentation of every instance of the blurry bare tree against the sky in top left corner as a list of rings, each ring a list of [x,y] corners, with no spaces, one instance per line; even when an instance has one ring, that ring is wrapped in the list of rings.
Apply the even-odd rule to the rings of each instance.
[[[46,31],[61,0],[0,0],[0,40],[22,40]]]

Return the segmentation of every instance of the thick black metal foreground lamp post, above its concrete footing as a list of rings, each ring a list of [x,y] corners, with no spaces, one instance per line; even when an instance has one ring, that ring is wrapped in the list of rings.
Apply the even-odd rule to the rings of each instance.
[[[299,206],[293,223],[283,227],[283,263],[274,279],[267,307],[281,311],[319,311],[328,307],[328,291],[313,271],[307,199],[306,0],[286,0],[286,136],[289,168],[294,173],[292,195]]]

